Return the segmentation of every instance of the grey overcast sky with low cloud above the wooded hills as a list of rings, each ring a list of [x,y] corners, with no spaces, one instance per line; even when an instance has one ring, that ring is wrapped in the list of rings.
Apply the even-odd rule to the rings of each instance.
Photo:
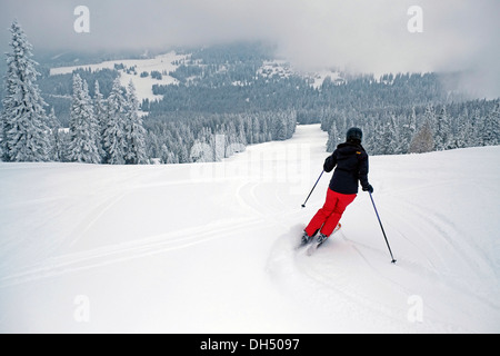
[[[77,33],[77,6],[90,33]],[[411,6],[423,13],[412,33]],[[500,97],[500,0],[0,0],[0,49],[18,19],[37,49],[161,49],[269,40],[303,69],[467,71]]]

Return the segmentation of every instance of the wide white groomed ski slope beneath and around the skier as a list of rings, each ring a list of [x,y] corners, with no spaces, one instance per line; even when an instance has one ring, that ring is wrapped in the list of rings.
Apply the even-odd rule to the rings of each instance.
[[[312,256],[327,134],[214,164],[0,164],[1,333],[499,333],[500,147],[370,157]]]

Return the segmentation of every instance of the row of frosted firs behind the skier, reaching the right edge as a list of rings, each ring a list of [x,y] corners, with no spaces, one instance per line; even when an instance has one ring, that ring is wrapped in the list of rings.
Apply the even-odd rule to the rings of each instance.
[[[362,128],[363,146],[371,155],[496,146],[500,144],[500,100],[327,111],[321,119],[329,132],[327,150],[343,142],[344,132],[353,126]]]

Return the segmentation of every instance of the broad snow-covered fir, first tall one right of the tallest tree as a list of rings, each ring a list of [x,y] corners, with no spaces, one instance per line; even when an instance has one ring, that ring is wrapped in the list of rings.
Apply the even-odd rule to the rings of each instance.
[[[99,127],[87,82],[79,75],[74,75],[68,159],[73,162],[99,164],[101,160],[98,149],[99,141]]]

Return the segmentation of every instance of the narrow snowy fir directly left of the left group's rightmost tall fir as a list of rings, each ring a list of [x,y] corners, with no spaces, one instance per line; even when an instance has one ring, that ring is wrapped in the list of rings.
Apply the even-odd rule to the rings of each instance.
[[[127,101],[120,86],[120,79],[113,82],[113,88],[108,97],[108,115],[103,131],[104,164],[124,165],[126,156],[126,111]]]

